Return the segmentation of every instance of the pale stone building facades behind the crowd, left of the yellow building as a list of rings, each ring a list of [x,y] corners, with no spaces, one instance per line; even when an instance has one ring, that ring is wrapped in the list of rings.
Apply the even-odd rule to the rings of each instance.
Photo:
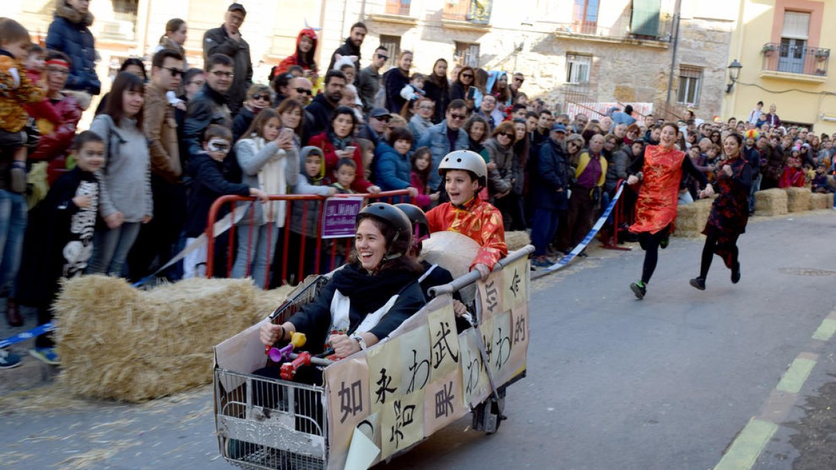
[[[242,37],[250,43],[253,79],[266,82],[269,70],[292,54],[298,31],[319,30],[319,64],[362,20],[369,27],[362,65],[378,44],[415,51],[415,71],[428,73],[436,59],[484,69],[519,71],[530,97],[554,109],[586,111],[593,117],[609,105],[656,109],[665,118],[693,107],[704,119],[723,104],[728,44],[737,9],[703,0],[246,0]],[[170,18],[188,24],[186,51],[191,66],[202,64],[201,39],[217,28],[229,2],[95,0],[90,8],[101,56],[98,72],[110,85],[122,60],[150,57]],[[0,15],[21,18],[43,38],[54,0],[6,0]],[[679,15],[677,16],[677,13]],[[726,18],[729,17],[729,18]],[[672,40],[676,18],[678,41]],[[675,58],[674,58],[675,54]],[[390,64],[390,65],[391,65]],[[671,75],[673,79],[670,79]],[[670,95],[670,100],[668,96]]]

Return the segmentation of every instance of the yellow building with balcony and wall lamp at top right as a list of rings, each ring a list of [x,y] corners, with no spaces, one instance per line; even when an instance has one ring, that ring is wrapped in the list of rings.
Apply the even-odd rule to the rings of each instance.
[[[742,64],[723,101],[723,117],[747,120],[758,101],[785,124],[836,132],[836,0],[742,0],[729,57]],[[729,80],[731,82],[731,80]]]

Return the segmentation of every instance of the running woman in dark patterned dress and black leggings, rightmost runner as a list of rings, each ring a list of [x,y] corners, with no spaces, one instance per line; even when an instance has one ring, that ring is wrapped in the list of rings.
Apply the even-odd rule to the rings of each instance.
[[[743,138],[729,134],[723,139],[723,160],[717,165],[717,197],[711,205],[706,228],[706,244],[702,248],[700,275],[691,285],[706,289],[706,276],[714,255],[720,256],[732,270],[732,284],[740,281],[740,250],[737,238],[746,232],[749,220],[749,190],[752,187],[752,166],[741,154]]]

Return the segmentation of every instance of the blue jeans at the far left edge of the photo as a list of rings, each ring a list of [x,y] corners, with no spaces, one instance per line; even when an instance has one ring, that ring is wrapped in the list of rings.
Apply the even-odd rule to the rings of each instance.
[[[23,194],[0,189],[0,296],[14,294],[23,235],[26,233],[26,201]]]

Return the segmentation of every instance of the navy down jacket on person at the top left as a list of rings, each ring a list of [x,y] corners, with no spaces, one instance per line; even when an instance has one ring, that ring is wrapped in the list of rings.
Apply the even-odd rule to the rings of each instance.
[[[66,89],[99,95],[101,82],[96,74],[96,49],[89,25],[93,15],[79,13],[66,0],[56,0],[53,22],[47,31],[47,49],[69,55],[69,78]]]

